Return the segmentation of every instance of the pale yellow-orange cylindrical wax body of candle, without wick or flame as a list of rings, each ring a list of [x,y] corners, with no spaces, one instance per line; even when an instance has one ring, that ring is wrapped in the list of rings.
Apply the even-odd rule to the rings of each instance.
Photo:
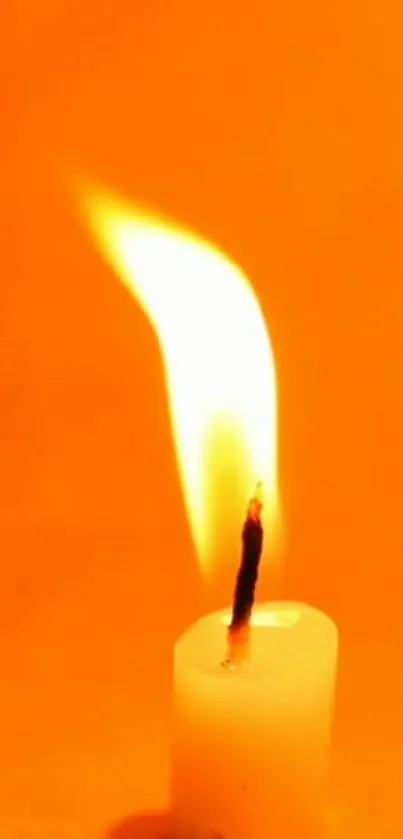
[[[337,629],[299,603],[262,604],[250,664],[227,671],[228,612],[175,647],[175,839],[317,839],[327,791]]]

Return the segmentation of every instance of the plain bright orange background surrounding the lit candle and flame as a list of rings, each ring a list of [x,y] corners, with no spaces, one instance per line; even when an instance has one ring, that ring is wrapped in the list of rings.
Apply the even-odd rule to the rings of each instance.
[[[398,9],[16,0],[8,11],[4,835],[151,830],[111,825],[166,804],[172,644],[206,607],[156,340],[74,216],[66,165],[193,227],[252,278],[278,369],[282,593],[341,631],[343,800],[356,810],[360,799],[364,819],[372,788],[381,796],[366,837],[386,811],[398,816]]]

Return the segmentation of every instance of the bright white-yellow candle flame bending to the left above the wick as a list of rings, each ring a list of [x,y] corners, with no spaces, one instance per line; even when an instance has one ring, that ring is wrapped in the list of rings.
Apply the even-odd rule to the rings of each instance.
[[[202,570],[211,570],[206,484],[216,465],[211,435],[220,423],[236,430],[230,459],[242,461],[245,509],[261,480],[272,534],[279,522],[275,370],[260,306],[242,271],[196,235],[96,189],[86,191],[84,210],[104,256],[159,338],[190,524]],[[226,499],[219,503],[224,507]],[[239,540],[242,521],[233,524]]]

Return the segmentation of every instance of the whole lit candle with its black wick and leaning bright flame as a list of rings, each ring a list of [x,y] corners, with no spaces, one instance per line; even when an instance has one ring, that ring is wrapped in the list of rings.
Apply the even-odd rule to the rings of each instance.
[[[281,533],[274,360],[260,306],[240,268],[209,243],[105,190],[87,187],[81,198],[97,244],[158,336],[184,500],[206,577],[224,556],[234,563],[248,493],[259,488],[244,526],[232,615],[202,618],[175,647],[175,839],[316,839],[337,630],[303,604],[260,605],[252,614],[263,533],[272,562]],[[206,497],[227,463],[220,452],[212,456],[217,427],[231,439],[229,491],[218,493],[229,528],[221,510],[215,525]]]

